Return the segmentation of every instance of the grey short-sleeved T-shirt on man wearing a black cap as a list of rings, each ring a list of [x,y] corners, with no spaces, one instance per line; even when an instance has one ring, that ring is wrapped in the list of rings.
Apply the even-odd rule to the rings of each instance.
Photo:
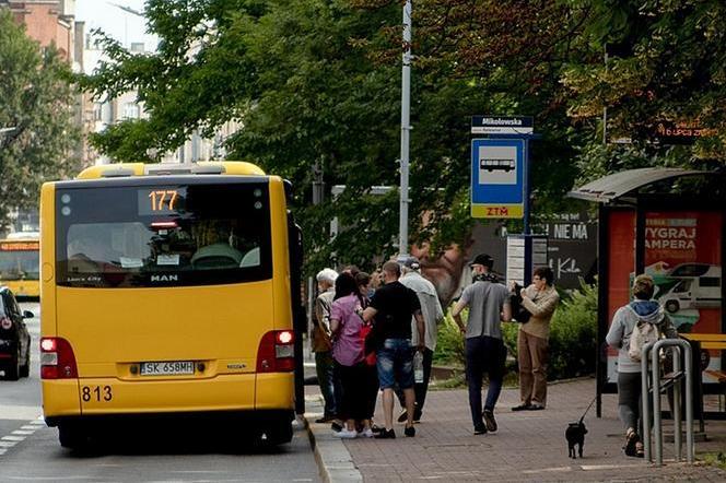
[[[461,302],[469,306],[467,339],[489,335],[502,339],[502,309],[510,303],[510,291],[501,283],[475,282],[464,288]]]

